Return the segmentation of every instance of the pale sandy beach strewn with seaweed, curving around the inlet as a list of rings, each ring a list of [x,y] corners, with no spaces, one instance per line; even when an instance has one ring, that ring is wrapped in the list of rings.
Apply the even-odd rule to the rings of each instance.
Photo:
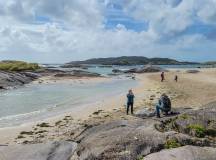
[[[160,73],[137,74],[136,80],[139,84],[132,88],[135,94],[135,111],[144,107],[154,110],[162,93],[170,96],[174,108],[199,108],[214,101],[216,99],[216,69],[199,69],[199,71],[187,73],[186,69],[172,69],[165,73],[163,83],[160,82]],[[179,77],[178,82],[174,81],[175,75]],[[95,80],[108,79],[81,81],[92,83]],[[125,95],[126,93],[122,93],[109,99],[104,98],[95,103],[86,104],[85,109],[78,110],[78,113],[71,112],[41,122],[0,129],[0,144],[73,140],[91,125],[116,119],[134,119],[133,116],[125,114]]]

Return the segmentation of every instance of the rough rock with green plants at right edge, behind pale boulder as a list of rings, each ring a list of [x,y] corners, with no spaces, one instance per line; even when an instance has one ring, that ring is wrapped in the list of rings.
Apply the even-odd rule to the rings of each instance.
[[[164,131],[176,130],[197,138],[216,137],[216,103],[210,103],[199,110],[185,112],[162,124]],[[216,146],[216,143],[215,143]]]

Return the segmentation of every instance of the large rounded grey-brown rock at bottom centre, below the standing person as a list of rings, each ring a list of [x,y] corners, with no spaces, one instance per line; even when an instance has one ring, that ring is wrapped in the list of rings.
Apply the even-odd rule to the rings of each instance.
[[[119,120],[88,129],[77,138],[77,154],[80,160],[131,160],[160,151],[166,136],[154,123],[150,119]]]

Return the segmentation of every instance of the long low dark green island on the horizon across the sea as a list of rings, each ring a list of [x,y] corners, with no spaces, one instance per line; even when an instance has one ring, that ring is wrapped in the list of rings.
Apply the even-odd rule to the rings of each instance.
[[[199,64],[196,62],[180,62],[170,58],[147,58],[142,56],[122,56],[110,58],[93,58],[85,61],[72,61],[66,65],[82,65],[82,64],[97,64],[97,65],[186,65]]]

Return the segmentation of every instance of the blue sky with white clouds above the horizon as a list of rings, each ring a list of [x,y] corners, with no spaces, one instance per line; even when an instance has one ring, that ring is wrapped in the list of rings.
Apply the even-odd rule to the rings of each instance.
[[[0,60],[216,60],[216,0],[0,0]]]

